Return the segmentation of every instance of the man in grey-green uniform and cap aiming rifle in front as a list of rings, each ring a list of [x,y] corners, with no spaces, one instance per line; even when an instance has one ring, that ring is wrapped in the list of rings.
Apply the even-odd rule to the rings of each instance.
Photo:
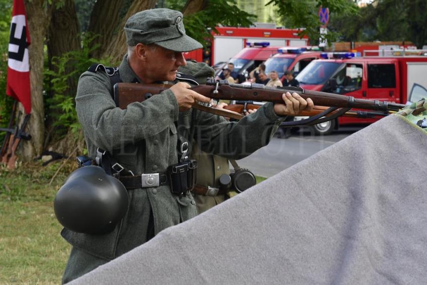
[[[176,164],[180,146],[196,142],[201,150],[240,159],[265,146],[287,115],[311,110],[312,101],[298,94],[283,94],[284,104],[265,104],[240,122],[228,122],[191,109],[209,98],[179,82],[177,73],[186,61],[183,52],[201,48],[185,34],[182,14],[168,9],[139,12],[125,25],[128,54],[119,66],[122,82],[175,84],[144,102],[116,108],[112,80],[102,68],[84,72],[79,79],[76,110],[84,131],[89,156],[96,149],[108,152],[138,177],[162,175]],[[115,73],[117,74],[117,73]],[[179,76],[178,76],[179,75]],[[145,174],[143,174],[145,173]],[[144,177],[144,176],[142,176]],[[117,256],[145,243],[161,230],[197,215],[190,193],[171,192],[168,184],[128,189],[129,209],[116,228],[106,234],[76,233],[62,236],[73,245],[63,282],[75,279]]]

